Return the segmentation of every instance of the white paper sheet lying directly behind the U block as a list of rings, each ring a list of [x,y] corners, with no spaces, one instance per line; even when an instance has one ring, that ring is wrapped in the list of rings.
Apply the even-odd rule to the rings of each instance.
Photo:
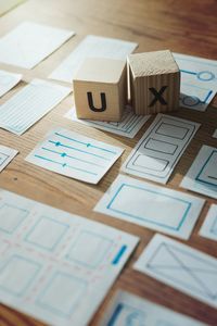
[[[72,83],[86,58],[126,60],[138,43],[115,38],[88,35],[77,48],[52,72],[49,78]]]

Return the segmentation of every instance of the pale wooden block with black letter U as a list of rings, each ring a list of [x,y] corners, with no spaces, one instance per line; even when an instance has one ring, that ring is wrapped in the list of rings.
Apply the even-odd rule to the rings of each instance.
[[[127,103],[127,64],[89,58],[78,70],[73,88],[79,118],[118,122]]]

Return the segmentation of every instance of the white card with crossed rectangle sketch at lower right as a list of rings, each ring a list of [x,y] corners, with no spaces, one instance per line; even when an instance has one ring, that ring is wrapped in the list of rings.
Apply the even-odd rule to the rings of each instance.
[[[133,268],[217,308],[217,259],[155,235]]]

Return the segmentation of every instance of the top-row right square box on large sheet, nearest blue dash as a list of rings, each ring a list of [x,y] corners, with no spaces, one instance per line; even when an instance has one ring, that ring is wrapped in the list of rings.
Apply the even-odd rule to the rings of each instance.
[[[82,230],[73,243],[67,258],[76,263],[94,268],[102,263],[113,241],[101,235]]]

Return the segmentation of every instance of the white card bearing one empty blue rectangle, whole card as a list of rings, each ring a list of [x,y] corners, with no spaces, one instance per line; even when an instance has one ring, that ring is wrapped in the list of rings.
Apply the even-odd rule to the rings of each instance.
[[[188,239],[204,200],[119,175],[94,211]]]

